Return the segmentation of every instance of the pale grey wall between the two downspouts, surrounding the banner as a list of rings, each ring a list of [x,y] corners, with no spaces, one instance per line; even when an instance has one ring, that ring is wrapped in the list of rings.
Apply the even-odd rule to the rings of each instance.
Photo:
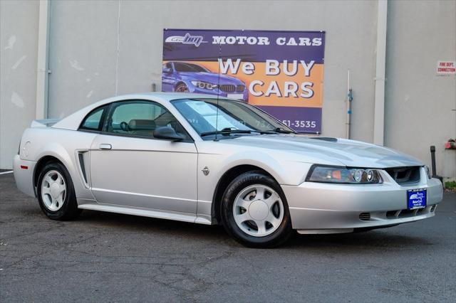
[[[322,132],[346,134],[350,68],[353,138],[371,142],[373,121],[363,116],[373,117],[376,7],[370,1],[53,2],[49,115],[68,115],[115,95],[115,87],[117,94],[150,91],[152,83],[161,90],[163,28],[324,30]]]

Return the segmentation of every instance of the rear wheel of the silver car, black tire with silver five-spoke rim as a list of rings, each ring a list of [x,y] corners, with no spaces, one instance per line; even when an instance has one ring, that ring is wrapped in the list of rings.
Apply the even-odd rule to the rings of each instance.
[[[71,176],[61,163],[50,162],[41,169],[36,192],[41,211],[51,220],[72,220],[82,211]]]

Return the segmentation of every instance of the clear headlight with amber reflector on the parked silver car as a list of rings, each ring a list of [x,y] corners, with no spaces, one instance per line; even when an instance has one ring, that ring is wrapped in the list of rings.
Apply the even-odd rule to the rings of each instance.
[[[378,184],[383,183],[376,169],[357,169],[341,166],[311,167],[306,181],[338,184]]]

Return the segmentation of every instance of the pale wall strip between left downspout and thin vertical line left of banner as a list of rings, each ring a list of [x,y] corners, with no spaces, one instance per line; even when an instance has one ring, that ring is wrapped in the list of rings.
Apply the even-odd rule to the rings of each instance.
[[[51,2],[48,117],[65,117],[116,95],[119,3]]]

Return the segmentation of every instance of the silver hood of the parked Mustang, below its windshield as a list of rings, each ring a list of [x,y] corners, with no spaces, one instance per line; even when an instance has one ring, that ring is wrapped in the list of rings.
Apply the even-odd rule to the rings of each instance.
[[[301,134],[266,134],[230,139],[230,144],[286,151],[289,159],[309,163],[366,168],[423,166],[423,162],[393,149],[364,142]]]

